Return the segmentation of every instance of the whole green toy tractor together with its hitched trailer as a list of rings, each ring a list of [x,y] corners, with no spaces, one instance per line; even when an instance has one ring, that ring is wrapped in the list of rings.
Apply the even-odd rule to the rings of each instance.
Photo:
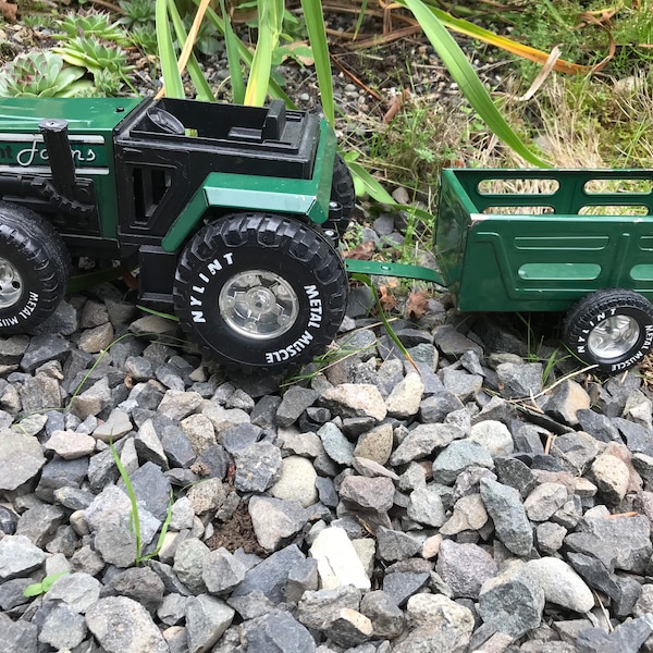
[[[0,123],[0,336],[50,316],[86,256],[138,268],[140,298],[231,367],[322,353],[347,271],[433,281],[461,311],[566,311],[603,373],[653,344],[653,171],[445,170],[430,270],[342,260],[352,177],[282,102],[1,99]]]

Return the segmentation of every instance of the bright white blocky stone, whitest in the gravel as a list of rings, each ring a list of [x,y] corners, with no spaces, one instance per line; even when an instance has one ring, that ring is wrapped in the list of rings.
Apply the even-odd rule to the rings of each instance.
[[[347,584],[360,590],[371,589],[364,564],[344,529],[333,526],[321,530],[309,554],[318,560],[321,589],[332,590]]]

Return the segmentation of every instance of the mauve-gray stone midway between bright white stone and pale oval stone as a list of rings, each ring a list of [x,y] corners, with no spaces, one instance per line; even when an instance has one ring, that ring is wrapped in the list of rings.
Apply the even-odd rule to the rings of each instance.
[[[444,540],[435,565],[453,597],[478,599],[481,586],[498,572],[492,556],[477,544]]]

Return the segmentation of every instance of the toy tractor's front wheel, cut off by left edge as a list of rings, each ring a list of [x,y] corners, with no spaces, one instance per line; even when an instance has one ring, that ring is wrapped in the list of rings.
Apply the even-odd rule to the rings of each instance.
[[[25,333],[63,299],[70,257],[40,215],[0,201],[0,335]]]

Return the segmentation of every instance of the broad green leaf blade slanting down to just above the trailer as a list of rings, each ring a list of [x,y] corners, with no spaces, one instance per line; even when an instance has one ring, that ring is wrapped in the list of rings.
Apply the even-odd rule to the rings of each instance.
[[[529,163],[547,168],[550,164],[532,152],[505,121],[467,57],[433,12],[421,0],[397,1],[412,12],[463,95],[490,130]]]

